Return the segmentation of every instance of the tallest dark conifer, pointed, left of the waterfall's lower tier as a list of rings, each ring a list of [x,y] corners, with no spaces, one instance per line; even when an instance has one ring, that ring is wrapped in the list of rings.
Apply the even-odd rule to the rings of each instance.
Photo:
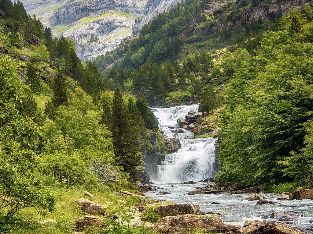
[[[135,175],[141,163],[141,154],[136,145],[137,136],[123,101],[121,91],[116,88],[112,108],[111,132],[115,147],[116,162],[130,176]]]

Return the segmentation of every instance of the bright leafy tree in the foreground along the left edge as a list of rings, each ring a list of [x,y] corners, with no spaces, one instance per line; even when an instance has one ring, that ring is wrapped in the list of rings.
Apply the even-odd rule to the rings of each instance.
[[[8,221],[25,207],[54,209],[55,200],[41,181],[37,148],[39,127],[18,112],[23,85],[7,57],[0,59],[0,218]]]

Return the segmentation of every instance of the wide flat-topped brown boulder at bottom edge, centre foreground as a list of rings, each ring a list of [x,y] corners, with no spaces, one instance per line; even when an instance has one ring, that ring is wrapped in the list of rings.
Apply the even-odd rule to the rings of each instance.
[[[178,215],[159,219],[154,230],[164,234],[185,234],[194,230],[224,233],[226,227],[217,215]]]

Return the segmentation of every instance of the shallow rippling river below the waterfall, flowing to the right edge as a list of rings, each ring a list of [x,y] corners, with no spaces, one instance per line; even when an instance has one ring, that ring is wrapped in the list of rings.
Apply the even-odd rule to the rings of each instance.
[[[165,183],[155,184],[162,188],[157,189],[156,193],[146,193],[152,199],[171,200],[178,204],[194,203],[200,206],[201,212],[220,213],[225,224],[233,224],[243,226],[246,220],[267,220],[276,221],[269,218],[271,213],[275,211],[285,212],[301,212],[303,217],[299,217],[296,221],[282,222],[287,225],[299,227],[301,229],[313,227],[313,200],[293,200],[293,201],[278,201],[279,194],[275,193],[257,193],[260,197],[265,197],[266,200],[278,202],[278,204],[256,205],[257,201],[247,201],[246,198],[253,194],[195,194],[185,195],[189,191],[197,188],[203,188],[207,183],[197,184],[182,184],[182,183]],[[171,187],[174,186],[174,187]],[[166,191],[172,194],[157,195],[160,191]],[[212,202],[220,204],[211,205]],[[313,231],[305,230],[307,233]]]

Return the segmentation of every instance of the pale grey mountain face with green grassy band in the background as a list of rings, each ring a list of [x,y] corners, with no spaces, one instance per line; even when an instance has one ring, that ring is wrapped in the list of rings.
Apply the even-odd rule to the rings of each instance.
[[[75,42],[81,60],[96,58],[132,36],[146,0],[69,0],[50,17],[55,36]]]

